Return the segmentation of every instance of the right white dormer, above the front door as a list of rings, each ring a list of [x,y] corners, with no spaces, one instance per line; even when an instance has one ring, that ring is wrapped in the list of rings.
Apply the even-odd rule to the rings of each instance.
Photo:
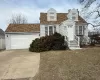
[[[78,21],[79,11],[78,9],[69,9],[68,10],[68,19],[73,21]]]

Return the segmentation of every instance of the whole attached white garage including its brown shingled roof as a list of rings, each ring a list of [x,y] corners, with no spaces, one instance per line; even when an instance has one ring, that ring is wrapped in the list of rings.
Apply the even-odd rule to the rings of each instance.
[[[28,49],[39,34],[40,24],[10,24],[5,31],[6,50]]]

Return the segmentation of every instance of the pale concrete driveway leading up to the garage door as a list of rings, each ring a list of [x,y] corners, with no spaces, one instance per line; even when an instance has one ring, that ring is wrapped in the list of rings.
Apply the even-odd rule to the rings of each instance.
[[[2,51],[0,52],[0,80],[32,78],[38,72],[39,62],[39,53],[28,50]]]

